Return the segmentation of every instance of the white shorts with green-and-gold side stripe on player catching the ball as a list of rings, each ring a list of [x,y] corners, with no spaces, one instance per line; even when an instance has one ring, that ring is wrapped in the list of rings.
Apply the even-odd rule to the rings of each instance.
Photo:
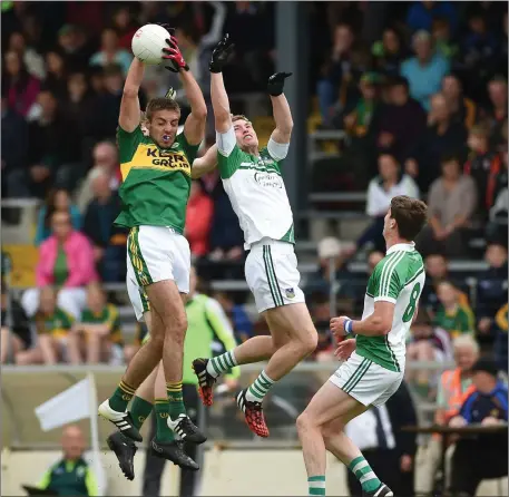
[[[127,237],[127,292],[138,321],[149,310],[145,286],[173,280],[189,293],[190,250],[185,236],[165,226],[136,226]]]

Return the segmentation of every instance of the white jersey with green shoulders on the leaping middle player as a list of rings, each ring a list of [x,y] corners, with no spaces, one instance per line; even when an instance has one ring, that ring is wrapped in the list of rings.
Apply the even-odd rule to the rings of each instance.
[[[244,248],[267,237],[295,243],[293,214],[281,175],[288,144],[272,138],[260,155],[237,146],[233,126],[216,134],[217,163],[232,207],[244,232]]]

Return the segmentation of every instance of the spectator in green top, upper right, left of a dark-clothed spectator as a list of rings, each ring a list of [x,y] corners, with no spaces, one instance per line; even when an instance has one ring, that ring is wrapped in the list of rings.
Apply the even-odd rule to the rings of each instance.
[[[344,128],[350,135],[355,138],[362,138],[369,134],[371,123],[378,115],[380,109],[380,99],[378,95],[378,84],[380,81],[379,75],[375,72],[366,72],[362,76],[359,84],[361,98],[358,100],[354,109],[345,109],[345,113],[340,113],[334,117],[334,123],[339,127]]]

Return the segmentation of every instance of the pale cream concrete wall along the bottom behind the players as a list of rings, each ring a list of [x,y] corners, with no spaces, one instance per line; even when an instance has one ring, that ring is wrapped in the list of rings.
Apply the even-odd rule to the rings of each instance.
[[[145,454],[135,459],[135,481],[128,481],[120,472],[111,452],[105,452],[102,464],[108,480],[108,495],[139,496]],[[58,451],[2,452],[1,495],[25,495],[21,485],[37,484],[43,471],[58,458]],[[345,468],[327,455],[327,495],[346,496]],[[202,469],[204,496],[306,496],[307,484],[300,450],[211,450],[205,455]],[[163,496],[177,495],[178,470],[166,465],[163,478]],[[508,481],[487,480],[478,496],[507,496]]]

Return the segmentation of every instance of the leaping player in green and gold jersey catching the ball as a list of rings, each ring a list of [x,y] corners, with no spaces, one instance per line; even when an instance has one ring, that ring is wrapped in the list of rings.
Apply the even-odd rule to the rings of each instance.
[[[116,224],[130,228],[127,240],[127,280],[135,281],[150,301],[151,340],[131,359],[114,394],[99,413],[127,437],[141,436],[127,406],[136,389],[163,360],[168,399],[168,426],[186,441],[202,444],[186,413],[183,393],[183,352],[187,329],[183,298],[189,291],[190,252],[183,235],[192,182],[192,164],[205,136],[206,105],[176,39],[161,53],[167,69],[178,72],[190,114],[177,135],[180,109],[176,101],[156,98],[146,109],[148,136],[140,128],[139,87],[144,65],[129,68],[118,118],[118,147],[123,185],[123,211]]]

